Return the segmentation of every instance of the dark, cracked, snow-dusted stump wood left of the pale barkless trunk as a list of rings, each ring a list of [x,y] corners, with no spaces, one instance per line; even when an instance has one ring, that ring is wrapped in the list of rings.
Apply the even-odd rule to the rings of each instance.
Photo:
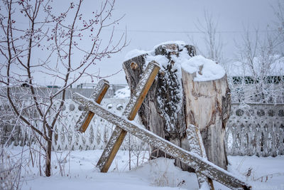
[[[163,55],[168,58],[168,65],[164,65],[158,73],[157,80],[151,86],[146,99],[141,105],[138,115],[141,117],[143,125],[160,137],[168,139],[170,142],[188,149],[189,144],[186,139],[185,112],[182,96],[182,85],[177,75],[178,65],[171,56],[179,56],[183,48],[186,48],[189,56],[195,56],[194,46],[178,46],[178,44],[163,44],[155,49],[155,55]],[[131,89],[135,89],[142,73],[142,68],[146,64],[147,54],[131,58],[123,63],[126,73],[126,80]],[[133,70],[131,63],[137,63]],[[165,157],[165,152],[158,147],[151,147],[151,159]],[[167,156],[168,157],[168,156]],[[175,164],[184,170],[189,170],[187,166],[176,160]]]

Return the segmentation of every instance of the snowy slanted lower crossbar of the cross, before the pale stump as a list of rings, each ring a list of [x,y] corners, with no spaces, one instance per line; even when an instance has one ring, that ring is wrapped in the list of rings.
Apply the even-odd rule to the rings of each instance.
[[[186,134],[187,140],[190,144],[190,152],[194,152],[195,154],[200,155],[200,157],[207,159],[204,145],[202,142],[202,137],[200,134],[200,129],[198,127],[195,127],[195,125],[188,125]],[[209,179],[207,176],[204,176],[200,173],[200,171],[195,171],[195,173],[197,175],[197,181],[200,186],[200,189],[202,188],[202,186],[208,186],[210,190],[214,190],[212,179]]]

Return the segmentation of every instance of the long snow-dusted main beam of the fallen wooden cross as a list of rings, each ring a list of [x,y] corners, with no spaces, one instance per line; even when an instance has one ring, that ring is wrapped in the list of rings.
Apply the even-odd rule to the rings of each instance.
[[[249,184],[246,184],[244,181],[241,181],[228,171],[214,165],[207,159],[204,159],[193,152],[188,152],[185,149],[182,149],[175,144],[158,137],[157,135],[153,134],[153,132],[150,132],[138,125],[136,122],[129,121],[126,117],[119,117],[119,115],[109,112],[93,100],[90,100],[77,93],[72,95],[72,99],[75,100],[75,102],[88,107],[89,110],[95,112],[104,120],[121,127],[122,130],[130,132],[134,136],[142,139],[144,142],[147,142],[152,146],[159,147],[159,149],[163,150],[167,154],[170,154],[170,156],[180,159],[181,162],[187,164],[197,171],[200,171],[200,173],[204,176],[216,180],[231,189],[251,189]]]

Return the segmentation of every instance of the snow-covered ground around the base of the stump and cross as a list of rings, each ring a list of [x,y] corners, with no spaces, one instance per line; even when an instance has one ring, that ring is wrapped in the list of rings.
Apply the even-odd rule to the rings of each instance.
[[[21,147],[7,149],[11,157],[21,155]],[[172,159],[148,162],[148,152],[138,159],[133,157],[129,171],[129,152],[119,151],[108,173],[100,173],[95,165],[102,150],[53,152],[53,174],[39,176],[39,171],[28,148],[23,149],[21,189],[198,189],[194,173],[181,171]],[[36,159],[36,157],[34,157]],[[247,181],[253,189],[284,189],[284,156],[280,157],[228,157],[229,171]],[[18,160],[20,162],[20,160]],[[28,165],[27,165],[28,164]],[[228,189],[214,181],[215,189]]]

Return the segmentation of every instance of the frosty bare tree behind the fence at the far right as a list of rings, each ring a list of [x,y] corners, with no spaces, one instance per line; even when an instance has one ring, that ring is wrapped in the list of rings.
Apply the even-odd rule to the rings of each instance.
[[[233,96],[241,102],[283,101],[283,73],[279,69],[283,64],[280,37],[271,31],[260,36],[258,29],[251,32],[247,28],[241,43],[236,44],[241,69],[232,81],[231,89]]]

